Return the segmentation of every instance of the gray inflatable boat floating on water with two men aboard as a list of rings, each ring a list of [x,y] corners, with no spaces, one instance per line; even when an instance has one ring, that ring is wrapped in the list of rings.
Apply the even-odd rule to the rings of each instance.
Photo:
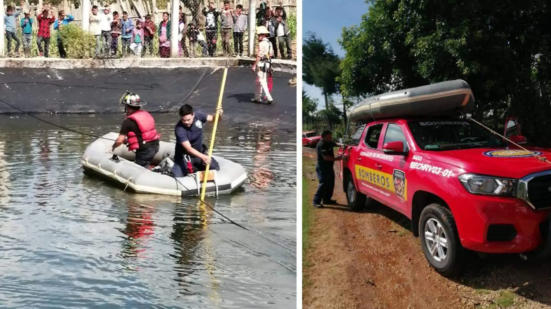
[[[121,145],[111,152],[111,146],[118,137],[117,133],[111,132],[102,137],[84,151],[82,167],[85,174],[110,180],[125,190],[137,193],[180,196],[201,193],[203,181],[198,177],[199,173],[173,178],[167,174],[153,172],[135,164],[134,152],[128,151],[126,145]],[[151,164],[155,169],[169,171],[174,160],[175,144],[164,141],[160,141],[159,144],[159,152],[155,154]],[[113,159],[113,154],[118,156],[118,160]],[[208,195],[231,194],[245,183],[247,173],[242,165],[214,155],[213,158],[218,161],[220,170],[215,171],[213,179],[207,181]]]

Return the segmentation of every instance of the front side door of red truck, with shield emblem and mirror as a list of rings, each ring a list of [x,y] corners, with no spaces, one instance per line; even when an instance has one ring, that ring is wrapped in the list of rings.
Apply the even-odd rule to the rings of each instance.
[[[409,151],[406,135],[401,126],[396,123],[388,123],[385,129],[384,139],[381,143],[381,148],[388,142],[401,141],[404,144],[403,151]],[[386,159],[380,162],[381,172],[391,175],[392,195],[390,196],[390,204],[401,213],[406,213],[408,207],[407,202],[407,178],[409,168],[409,157],[403,154],[385,154]]]

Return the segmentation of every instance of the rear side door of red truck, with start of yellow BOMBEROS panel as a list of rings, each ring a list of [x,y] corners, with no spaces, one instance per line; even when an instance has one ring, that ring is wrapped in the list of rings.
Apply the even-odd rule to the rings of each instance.
[[[382,129],[383,123],[373,123],[364,130],[364,138],[356,153],[354,173],[358,181],[358,191],[387,204],[392,178],[377,168],[380,163],[377,157],[382,154],[382,151],[377,149]]]

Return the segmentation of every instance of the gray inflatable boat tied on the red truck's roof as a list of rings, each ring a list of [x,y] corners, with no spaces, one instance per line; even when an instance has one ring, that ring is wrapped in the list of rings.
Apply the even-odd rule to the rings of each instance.
[[[350,113],[351,122],[425,115],[457,115],[474,107],[474,96],[464,80],[396,90],[366,98]]]

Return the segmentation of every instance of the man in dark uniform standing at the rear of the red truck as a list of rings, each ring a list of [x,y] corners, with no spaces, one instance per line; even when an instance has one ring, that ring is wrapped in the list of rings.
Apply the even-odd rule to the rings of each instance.
[[[317,187],[314,201],[312,202],[316,208],[323,208],[322,202],[326,205],[337,203],[336,200],[331,200],[335,187],[333,165],[335,161],[340,161],[342,157],[335,157],[333,147],[337,146],[337,144],[333,142],[332,138],[331,131],[325,130],[321,134],[321,141],[316,146],[316,174],[317,179],[320,180],[320,185]]]

